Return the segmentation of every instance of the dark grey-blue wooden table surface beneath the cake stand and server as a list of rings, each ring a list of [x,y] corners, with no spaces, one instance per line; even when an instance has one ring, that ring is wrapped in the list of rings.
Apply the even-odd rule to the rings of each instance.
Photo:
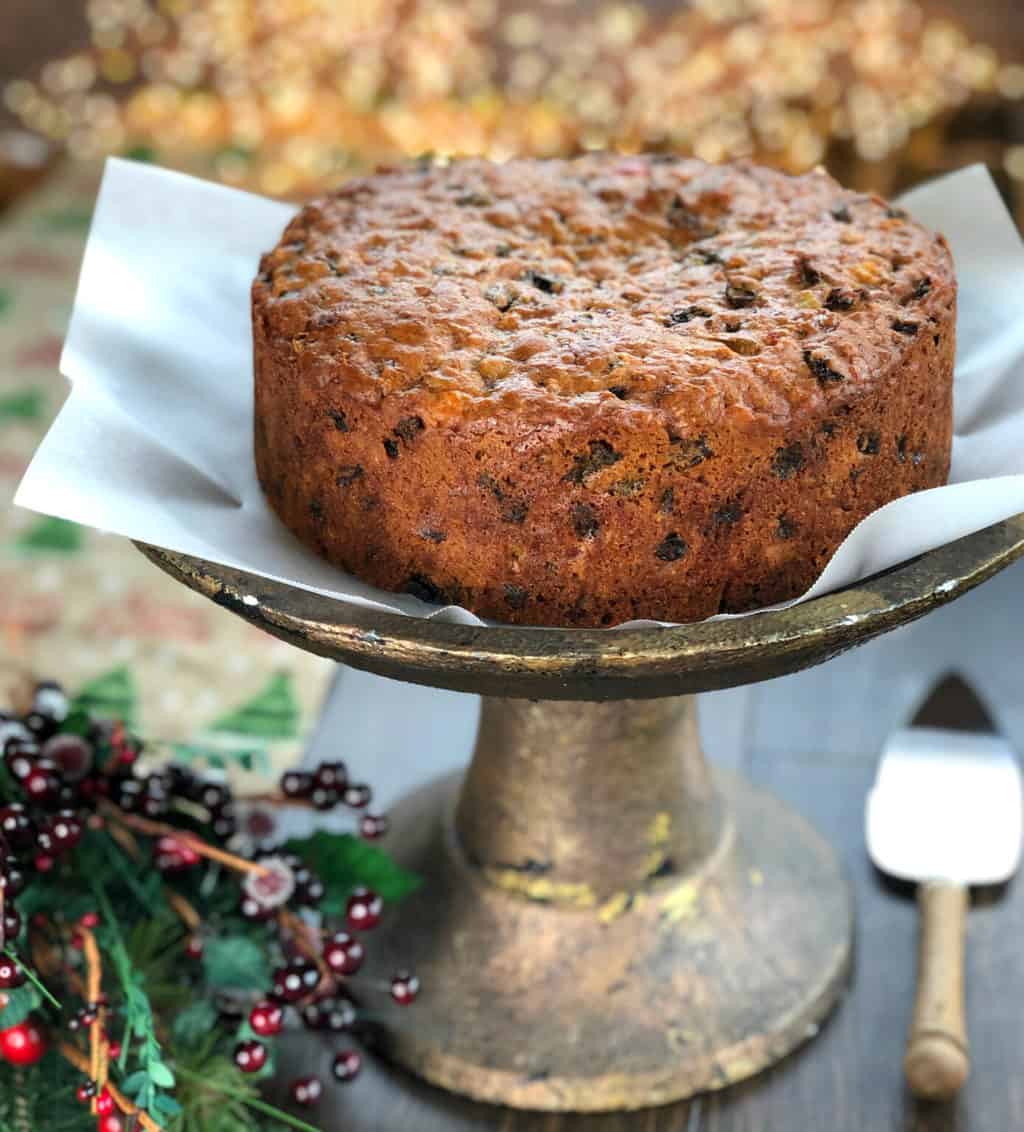
[[[324,1132],[1012,1132],[1024,1127],[1024,885],[976,898],[969,923],[973,1070],[960,1099],[914,1103],[901,1058],[915,961],[912,895],[883,883],[864,852],[866,792],[887,731],[931,683],[963,671],[1024,751],[1024,564],[915,625],[797,676],[702,697],[708,754],[738,765],[837,847],[858,898],[858,952],[845,1000],[818,1037],[773,1071],[721,1094],[633,1115],[559,1116],[475,1105],[370,1063],[326,1091]],[[358,760],[385,799],[463,762],[471,696],[344,670],[312,758]],[[341,736],[341,748],[339,748]],[[359,753],[356,755],[356,753]],[[414,1009],[414,1007],[413,1007]],[[318,1063],[318,1058],[320,1060]],[[285,1056],[329,1079],[329,1053]],[[284,1066],[286,1077],[287,1065]]]

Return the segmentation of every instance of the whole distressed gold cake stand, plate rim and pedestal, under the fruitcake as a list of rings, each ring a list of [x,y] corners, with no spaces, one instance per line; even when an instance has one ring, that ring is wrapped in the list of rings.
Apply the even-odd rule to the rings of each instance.
[[[373,1036],[479,1100],[596,1112],[778,1061],[850,969],[835,854],[771,795],[708,769],[694,693],[807,668],[952,601],[1024,552],[1024,516],[784,611],[611,632],[372,612],[140,549],[300,649],[482,694],[465,777],[393,815],[388,848],[425,883],[370,953],[381,975],[414,967],[422,990]]]

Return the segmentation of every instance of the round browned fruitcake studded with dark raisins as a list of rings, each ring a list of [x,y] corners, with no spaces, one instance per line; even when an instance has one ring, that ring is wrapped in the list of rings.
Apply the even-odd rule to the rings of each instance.
[[[945,481],[955,307],[943,238],[821,172],[384,172],[260,264],[257,469],[387,590],[535,625],[743,610]]]

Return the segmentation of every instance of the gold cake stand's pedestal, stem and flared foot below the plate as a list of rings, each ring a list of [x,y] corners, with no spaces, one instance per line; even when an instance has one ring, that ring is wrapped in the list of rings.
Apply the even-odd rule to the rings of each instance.
[[[517,1108],[664,1104],[777,1061],[842,990],[853,921],[833,850],[771,795],[706,773],[688,697],[485,700],[465,782],[420,790],[394,826],[389,851],[424,883],[369,952],[422,990],[373,1034],[444,1088]]]

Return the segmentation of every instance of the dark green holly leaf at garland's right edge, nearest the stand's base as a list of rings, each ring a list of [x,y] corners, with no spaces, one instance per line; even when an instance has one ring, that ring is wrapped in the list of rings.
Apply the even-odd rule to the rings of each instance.
[[[285,850],[301,857],[324,882],[326,891],[320,909],[327,916],[344,912],[352,890],[360,885],[372,889],[382,900],[396,901],[415,892],[422,883],[386,852],[351,833],[318,830],[310,838],[289,841]]]

